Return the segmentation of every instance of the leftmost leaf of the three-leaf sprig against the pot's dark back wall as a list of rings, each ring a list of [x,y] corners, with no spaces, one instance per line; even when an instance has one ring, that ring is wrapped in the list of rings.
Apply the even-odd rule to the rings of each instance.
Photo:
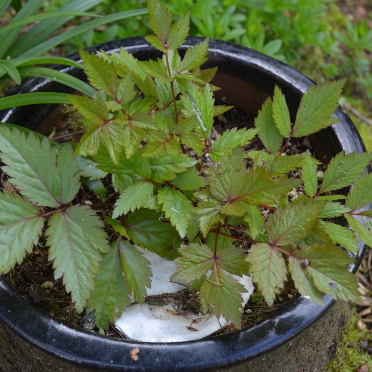
[[[269,154],[278,152],[283,142],[283,136],[275,125],[272,113],[272,100],[268,97],[254,120],[254,126],[259,129],[258,137]]]

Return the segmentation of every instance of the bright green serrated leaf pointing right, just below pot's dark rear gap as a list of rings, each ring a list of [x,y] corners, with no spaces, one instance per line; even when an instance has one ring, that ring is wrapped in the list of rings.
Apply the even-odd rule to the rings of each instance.
[[[213,162],[218,163],[222,156],[227,156],[237,146],[245,146],[257,134],[257,129],[237,129],[237,127],[225,130],[212,144],[209,156]]]

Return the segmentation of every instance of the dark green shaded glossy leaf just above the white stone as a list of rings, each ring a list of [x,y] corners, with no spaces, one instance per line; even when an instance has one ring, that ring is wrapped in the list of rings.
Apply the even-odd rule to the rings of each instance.
[[[169,222],[163,222],[162,218],[154,210],[138,209],[128,215],[123,226],[135,244],[174,259],[178,256],[175,246],[180,238],[177,230]]]

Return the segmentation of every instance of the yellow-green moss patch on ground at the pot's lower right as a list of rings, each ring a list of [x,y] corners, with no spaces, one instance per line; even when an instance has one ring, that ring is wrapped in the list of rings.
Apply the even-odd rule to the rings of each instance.
[[[336,356],[324,372],[351,372],[366,364],[372,367],[372,356],[361,348],[361,342],[372,344],[372,333],[368,329],[360,329],[359,318],[353,316],[352,322],[341,332]]]

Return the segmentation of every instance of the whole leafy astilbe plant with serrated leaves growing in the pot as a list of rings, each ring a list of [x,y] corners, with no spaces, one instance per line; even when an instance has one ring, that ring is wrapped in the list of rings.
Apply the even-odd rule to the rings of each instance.
[[[78,312],[95,309],[101,330],[130,295],[145,300],[151,268],[139,247],[175,259],[172,280],[198,292],[203,311],[238,328],[245,289],[233,274],[251,273],[269,305],[289,275],[315,303],[322,304],[323,294],[358,302],[348,269],[358,251],[356,233],[372,246],[372,213],[360,211],[372,201],[372,175],[364,174],[372,155],[336,155],[318,184],[318,160],[287,154],[294,138],[337,121],[332,114],[344,81],[310,87],[294,123],[276,87],[255,128],[212,138],[214,117],[230,108],[214,105],[216,69],[200,68],[208,39],[182,58],[189,15],[172,23],[158,0],[148,10],[155,35],[146,39],[162,58],[138,61],[124,49],[80,52],[96,92],[92,99],[69,97],[86,128],[77,145],[1,127],[2,171],[16,192],[0,193],[0,272],[22,262],[47,224],[55,278],[63,277]],[[261,149],[246,151],[256,136]],[[202,167],[206,157],[209,167]],[[102,219],[76,194],[82,179],[102,189],[104,178],[118,196]],[[302,193],[290,200],[294,188]],[[341,216],[352,229],[332,222]]]

